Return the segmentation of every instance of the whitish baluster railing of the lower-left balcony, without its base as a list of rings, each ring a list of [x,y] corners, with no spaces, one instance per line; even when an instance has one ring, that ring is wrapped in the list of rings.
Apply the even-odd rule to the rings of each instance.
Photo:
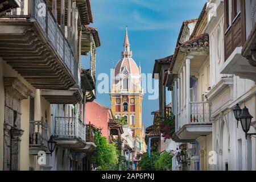
[[[81,138],[85,141],[85,125],[75,117],[55,117],[56,138]]]

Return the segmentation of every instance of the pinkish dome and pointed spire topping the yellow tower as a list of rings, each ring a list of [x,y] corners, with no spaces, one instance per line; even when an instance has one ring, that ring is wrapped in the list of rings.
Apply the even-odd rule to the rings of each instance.
[[[115,84],[118,84],[120,77],[129,76],[133,79],[134,84],[139,84],[141,76],[141,68],[133,60],[133,52],[130,51],[130,43],[128,37],[128,31],[126,28],[125,41],[123,42],[123,51],[121,53],[121,59],[118,61],[114,69]]]

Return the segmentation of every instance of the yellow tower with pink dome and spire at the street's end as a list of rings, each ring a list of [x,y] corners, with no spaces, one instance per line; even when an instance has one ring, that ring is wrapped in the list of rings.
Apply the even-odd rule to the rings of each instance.
[[[125,117],[134,139],[139,138],[137,152],[144,152],[144,126],[142,123],[143,90],[141,87],[141,67],[132,59],[128,32],[126,30],[125,42],[121,59],[114,68],[110,99],[112,112],[115,118]],[[138,140],[138,139],[137,139]]]

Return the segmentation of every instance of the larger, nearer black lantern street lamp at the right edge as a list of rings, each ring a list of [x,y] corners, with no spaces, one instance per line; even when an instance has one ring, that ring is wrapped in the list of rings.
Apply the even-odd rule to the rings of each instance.
[[[251,119],[253,117],[250,115],[249,110],[245,106],[242,110],[242,113],[239,116],[239,119],[241,121],[242,129],[245,131],[245,138],[247,139],[247,135],[256,135],[256,133],[248,133],[251,126]]]

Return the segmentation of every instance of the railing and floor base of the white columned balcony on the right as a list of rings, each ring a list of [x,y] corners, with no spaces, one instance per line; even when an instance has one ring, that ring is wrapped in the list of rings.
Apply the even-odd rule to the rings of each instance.
[[[185,109],[181,111],[178,118],[177,137],[181,140],[193,140],[212,132],[211,103],[191,102],[188,116]]]

